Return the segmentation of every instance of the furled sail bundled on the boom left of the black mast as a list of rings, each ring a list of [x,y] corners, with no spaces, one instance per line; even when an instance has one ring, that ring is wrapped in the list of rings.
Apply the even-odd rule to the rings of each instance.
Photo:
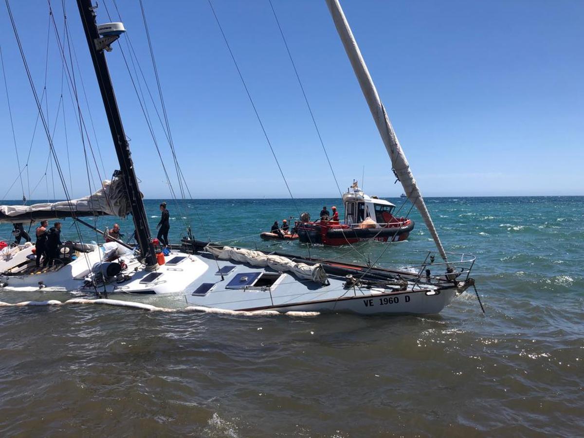
[[[119,178],[105,180],[90,196],[31,206],[0,206],[0,223],[27,223],[65,217],[112,215],[126,217],[131,206]]]

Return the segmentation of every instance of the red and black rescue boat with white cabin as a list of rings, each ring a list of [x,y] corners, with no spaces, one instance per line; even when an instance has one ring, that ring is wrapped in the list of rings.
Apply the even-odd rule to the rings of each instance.
[[[343,194],[345,221],[332,221],[323,216],[310,220],[303,213],[296,223],[298,238],[303,244],[348,245],[359,241],[397,242],[408,238],[413,221],[393,214],[395,204],[377,196],[368,196],[357,181]]]

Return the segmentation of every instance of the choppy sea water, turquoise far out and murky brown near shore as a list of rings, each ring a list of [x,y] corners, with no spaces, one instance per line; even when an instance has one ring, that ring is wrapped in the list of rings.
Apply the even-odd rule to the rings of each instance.
[[[402,201],[390,199],[398,206]],[[263,242],[274,220],[338,200],[168,201],[196,238]],[[241,318],[100,306],[0,308],[3,434],[195,436],[554,435],[584,431],[584,197],[427,199],[447,251],[478,257],[485,304],[465,293],[435,317]],[[152,230],[159,200],[147,200]],[[409,206],[404,206],[407,213]],[[341,211],[342,213],[342,211]],[[199,221],[199,216],[202,219]],[[420,262],[406,242],[314,256]],[[66,222],[63,234],[76,238]],[[100,219],[98,226],[112,224]],[[129,221],[120,221],[131,234]],[[10,229],[0,226],[0,238]],[[155,234],[155,232],[154,232]],[[96,239],[91,231],[84,238]],[[38,298],[35,296],[34,298]],[[2,301],[22,301],[0,292]]]

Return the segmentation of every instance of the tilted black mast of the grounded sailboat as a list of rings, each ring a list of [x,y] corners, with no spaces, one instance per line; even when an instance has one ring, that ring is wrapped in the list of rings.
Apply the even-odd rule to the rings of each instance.
[[[106,47],[109,49],[109,46],[107,44],[99,44],[100,48],[98,48],[98,41],[103,43],[105,39],[100,39],[99,37],[98,26],[95,22],[95,8],[93,8],[91,0],[77,0],[77,6],[79,7],[81,23],[85,30],[85,36],[87,37],[87,44],[91,53],[93,67],[95,68],[95,75],[98,78],[99,89],[102,92],[103,106],[106,110],[110,131],[112,131],[117,160],[120,162],[121,178],[124,181],[126,193],[132,205],[132,217],[134,219],[134,226],[136,227],[136,238],[140,245],[142,257],[145,258],[146,266],[154,266],[157,264],[157,261],[154,254],[154,246],[151,243],[148,219],[144,210],[140,189],[138,188],[134,164],[130,157],[130,145],[126,140],[124,127],[121,123],[120,111],[117,107],[116,95],[113,92],[112,78],[110,78],[106,57],[103,53],[103,50]]]

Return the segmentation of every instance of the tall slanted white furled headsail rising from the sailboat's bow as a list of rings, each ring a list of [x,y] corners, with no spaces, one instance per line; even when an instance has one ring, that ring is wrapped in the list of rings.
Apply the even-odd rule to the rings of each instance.
[[[353,32],[351,32],[349,23],[345,18],[345,13],[343,13],[343,9],[340,7],[338,0],[326,0],[326,4],[331,11],[332,19],[335,22],[340,40],[343,42],[343,46],[345,46],[345,51],[349,56],[355,75],[359,80],[361,91],[363,91],[363,95],[367,100],[373,119],[377,124],[377,129],[381,134],[381,138],[385,144],[385,149],[387,149],[387,153],[390,155],[391,165],[395,170],[395,174],[402,183],[402,186],[404,186],[405,194],[408,195],[408,199],[412,201],[422,215],[426,227],[430,231],[430,234],[432,234],[432,238],[436,243],[440,256],[442,256],[444,261],[447,262],[446,253],[444,252],[436,228],[434,228],[430,213],[428,213],[428,209],[426,208],[422,194],[418,189],[416,180],[413,178],[408,160],[405,158],[404,151],[402,151],[402,148],[399,145],[394,128],[391,126],[390,119],[385,112],[385,107],[383,106],[383,103],[381,103],[381,99],[377,94],[377,89],[373,84],[373,79],[371,79],[367,65],[365,65],[359,46],[357,46],[357,41],[355,41]]]

